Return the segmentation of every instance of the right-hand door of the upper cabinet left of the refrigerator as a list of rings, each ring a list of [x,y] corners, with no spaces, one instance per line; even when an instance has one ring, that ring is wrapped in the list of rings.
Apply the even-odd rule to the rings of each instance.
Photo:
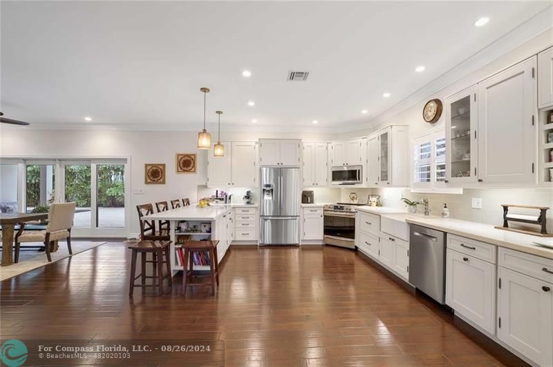
[[[257,185],[256,144],[253,141],[232,143],[232,186],[251,188]]]

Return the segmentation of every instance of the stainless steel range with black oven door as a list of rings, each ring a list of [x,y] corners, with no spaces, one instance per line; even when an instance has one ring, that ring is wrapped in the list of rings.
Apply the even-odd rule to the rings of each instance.
[[[324,243],[355,249],[355,206],[365,204],[330,204],[324,206]]]

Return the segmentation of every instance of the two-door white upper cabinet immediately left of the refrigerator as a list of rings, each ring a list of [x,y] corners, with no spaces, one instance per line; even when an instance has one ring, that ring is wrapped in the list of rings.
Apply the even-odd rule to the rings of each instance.
[[[257,154],[254,141],[223,141],[224,157],[207,152],[207,186],[250,188],[257,185]]]

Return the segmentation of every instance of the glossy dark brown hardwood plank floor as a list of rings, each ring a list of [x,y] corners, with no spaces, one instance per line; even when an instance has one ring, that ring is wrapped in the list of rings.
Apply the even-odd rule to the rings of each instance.
[[[182,297],[178,275],[132,299],[129,255],[105,244],[2,281],[1,339],[221,340],[225,366],[524,365],[351,250],[233,246],[214,297]]]

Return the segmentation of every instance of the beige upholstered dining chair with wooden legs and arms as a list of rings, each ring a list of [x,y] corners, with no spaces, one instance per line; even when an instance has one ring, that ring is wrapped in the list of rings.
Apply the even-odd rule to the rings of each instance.
[[[15,262],[19,262],[19,250],[23,242],[43,242],[48,261],[52,261],[50,256],[50,243],[59,239],[66,239],[69,255],[73,255],[71,250],[71,228],[73,227],[73,217],[75,217],[76,203],[54,203],[50,204],[48,212],[48,225],[45,230],[25,230],[25,224],[19,227],[15,235]]]

